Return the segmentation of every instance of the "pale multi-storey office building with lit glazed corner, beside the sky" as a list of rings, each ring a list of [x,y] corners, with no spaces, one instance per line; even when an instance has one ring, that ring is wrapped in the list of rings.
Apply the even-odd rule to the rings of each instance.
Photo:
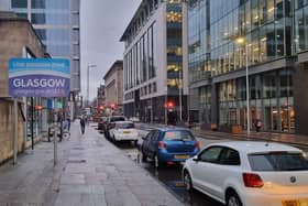
[[[182,0],[143,0],[127,26],[124,115],[146,122],[187,119],[187,31]]]

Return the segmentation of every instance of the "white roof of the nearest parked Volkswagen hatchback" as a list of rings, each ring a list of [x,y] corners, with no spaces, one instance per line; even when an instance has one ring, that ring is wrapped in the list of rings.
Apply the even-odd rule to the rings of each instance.
[[[220,143],[211,143],[209,145],[227,147],[246,154],[278,151],[301,152],[301,150],[287,144],[265,141],[228,141]]]

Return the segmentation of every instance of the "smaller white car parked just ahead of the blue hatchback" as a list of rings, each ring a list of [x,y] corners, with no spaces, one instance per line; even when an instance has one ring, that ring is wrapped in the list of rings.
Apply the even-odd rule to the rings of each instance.
[[[138,130],[132,121],[116,121],[109,132],[113,141],[134,141],[136,143],[139,139]]]

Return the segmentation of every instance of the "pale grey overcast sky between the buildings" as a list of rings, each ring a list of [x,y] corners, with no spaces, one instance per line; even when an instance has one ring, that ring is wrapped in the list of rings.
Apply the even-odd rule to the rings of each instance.
[[[81,94],[87,93],[87,66],[90,68],[90,99],[103,84],[102,77],[117,59],[123,59],[124,44],[119,42],[141,0],[80,0]]]

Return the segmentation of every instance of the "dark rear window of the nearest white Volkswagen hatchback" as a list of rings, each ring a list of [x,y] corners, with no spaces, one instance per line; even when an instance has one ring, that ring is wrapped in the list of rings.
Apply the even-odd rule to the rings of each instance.
[[[249,154],[253,171],[306,171],[308,160],[302,153],[271,152]]]

